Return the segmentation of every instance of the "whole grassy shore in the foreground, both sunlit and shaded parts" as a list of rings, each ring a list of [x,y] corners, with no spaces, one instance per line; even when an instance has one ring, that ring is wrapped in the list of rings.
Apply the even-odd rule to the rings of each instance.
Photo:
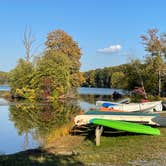
[[[49,148],[1,155],[0,165],[165,165],[166,128],[160,131],[160,136],[104,133],[99,147],[93,137],[67,136]],[[59,141],[68,142],[67,146]],[[73,142],[78,146],[73,146]]]

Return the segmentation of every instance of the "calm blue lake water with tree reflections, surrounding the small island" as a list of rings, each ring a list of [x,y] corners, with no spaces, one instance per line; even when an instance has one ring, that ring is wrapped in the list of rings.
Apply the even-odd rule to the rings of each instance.
[[[8,90],[8,86],[0,86],[0,91]],[[42,146],[52,132],[64,124],[70,124],[80,110],[87,111],[95,107],[98,99],[109,99],[114,90],[79,88],[79,99],[71,103],[8,105],[4,99],[0,99],[0,154],[12,154]]]

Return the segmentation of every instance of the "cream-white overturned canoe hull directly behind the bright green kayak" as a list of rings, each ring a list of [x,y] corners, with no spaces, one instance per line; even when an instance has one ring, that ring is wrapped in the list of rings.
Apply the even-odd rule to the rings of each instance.
[[[158,125],[158,123],[153,122],[152,119],[155,118],[155,115],[77,115],[74,119],[75,125],[86,125],[89,124],[91,119],[99,118],[99,119],[107,119],[107,120],[121,120],[121,121],[129,121],[129,122],[139,122],[146,123],[150,125]]]

